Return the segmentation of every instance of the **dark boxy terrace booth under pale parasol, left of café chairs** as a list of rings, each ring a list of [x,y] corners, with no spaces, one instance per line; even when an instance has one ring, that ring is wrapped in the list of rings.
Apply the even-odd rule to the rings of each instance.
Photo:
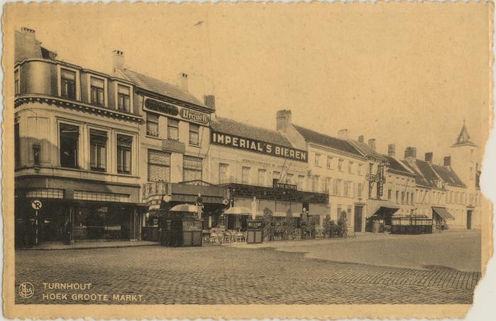
[[[159,220],[159,242],[164,246],[201,246],[202,221],[197,206],[181,204]]]

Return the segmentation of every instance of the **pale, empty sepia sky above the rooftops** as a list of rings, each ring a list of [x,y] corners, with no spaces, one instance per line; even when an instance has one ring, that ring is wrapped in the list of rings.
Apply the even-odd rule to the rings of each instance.
[[[261,127],[275,129],[276,111],[290,109],[295,124],[349,129],[383,153],[394,143],[400,157],[415,146],[439,163],[466,119],[485,144],[486,6],[362,4],[337,14],[342,6],[26,6],[16,29],[35,29],[60,59],[86,68],[110,73],[120,49],[143,74],[176,83],[186,72],[193,95],[215,95],[218,115]]]

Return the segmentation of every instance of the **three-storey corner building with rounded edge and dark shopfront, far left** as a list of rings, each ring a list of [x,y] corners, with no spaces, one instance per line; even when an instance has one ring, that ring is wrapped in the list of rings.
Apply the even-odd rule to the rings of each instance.
[[[71,241],[140,238],[134,84],[57,60],[34,30],[15,37],[17,245],[60,242],[68,233]]]

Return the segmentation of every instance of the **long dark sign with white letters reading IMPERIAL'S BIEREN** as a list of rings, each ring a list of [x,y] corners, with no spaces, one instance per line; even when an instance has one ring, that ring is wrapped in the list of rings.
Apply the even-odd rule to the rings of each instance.
[[[291,158],[295,161],[307,162],[307,152],[299,149],[269,144],[264,141],[247,139],[230,134],[222,134],[212,131],[210,134],[210,143],[228,146],[239,149],[247,149],[257,153],[263,153],[271,156]]]

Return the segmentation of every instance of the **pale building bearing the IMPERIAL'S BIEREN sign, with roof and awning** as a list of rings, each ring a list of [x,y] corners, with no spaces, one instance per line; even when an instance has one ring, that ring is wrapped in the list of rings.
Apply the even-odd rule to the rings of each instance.
[[[308,191],[308,152],[293,147],[279,132],[215,117],[210,123],[208,181],[227,188],[230,205],[250,214],[300,218],[303,209],[317,217],[327,194]],[[206,217],[205,217],[206,218]],[[227,216],[228,229],[246,228],[245,216]],[[222,223],[208,216],[208,226]]]

